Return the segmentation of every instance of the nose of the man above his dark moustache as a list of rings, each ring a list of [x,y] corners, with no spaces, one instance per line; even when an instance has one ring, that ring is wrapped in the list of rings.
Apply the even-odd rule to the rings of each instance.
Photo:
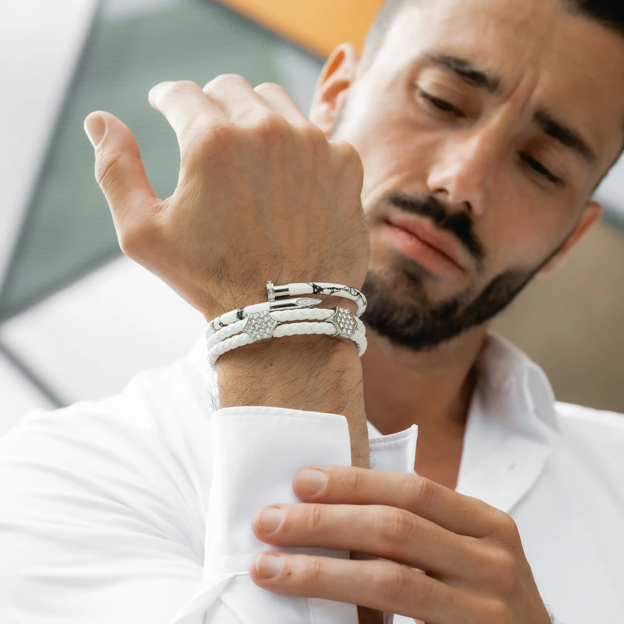
[[[429,192],[458,212],[482,215],[502,158],[500,143],[487,127],[449,137],[429,170]]]

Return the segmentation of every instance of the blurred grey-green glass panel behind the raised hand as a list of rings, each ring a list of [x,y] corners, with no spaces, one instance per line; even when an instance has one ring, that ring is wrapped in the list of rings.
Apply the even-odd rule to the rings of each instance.
[[[95,21],[62,110],[0,296],[0,319],[120,253],[82,129],[89,112],[108,110],[124,120],[156,194],[167,197],[177,182],[180,157],[173,131],[147,103],[152,86],[180,79],[203,85],[232,72],[254,85],[279,82],[306,106],[321,68],[316,57],[209,0],[106,16],[104,10]]]

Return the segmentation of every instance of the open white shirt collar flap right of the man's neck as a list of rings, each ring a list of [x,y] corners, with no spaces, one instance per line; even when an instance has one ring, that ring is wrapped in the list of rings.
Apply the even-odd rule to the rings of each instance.
[[[559,426],[544,371],[490,334],[476,363],[457,491],[509,512],[529,492]]]

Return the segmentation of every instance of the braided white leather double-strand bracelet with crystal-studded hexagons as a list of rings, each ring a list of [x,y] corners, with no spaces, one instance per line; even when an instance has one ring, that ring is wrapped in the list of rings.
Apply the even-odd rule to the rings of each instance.
[[[281,324],[283,321],[295,320],[298,316],[316,316],[319,319],[324,317],[326,321]],[[237,331],[241,333],[233,336],[232,334]],[[217,359],[223,353],[258,340],[305,334],[326,334],[327,336],[349,338],[356,343],[358,353],[361,356],[366,351],[365,332],[362,321],[344,308],[273,313],[261,311],[250,314],[244,321],[238,321],[220,330],[218,337],[216,333],[208,336],[208,363],[210,366],[215,366]]]

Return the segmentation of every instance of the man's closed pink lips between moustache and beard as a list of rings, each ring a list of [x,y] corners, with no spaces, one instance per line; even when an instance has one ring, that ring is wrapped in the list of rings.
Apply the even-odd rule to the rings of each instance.
[[[454,236],[437,229],[431,221],[399,215],[387,218],[384,225],[401,251],[431,273],[450,276],[467,271]]]

